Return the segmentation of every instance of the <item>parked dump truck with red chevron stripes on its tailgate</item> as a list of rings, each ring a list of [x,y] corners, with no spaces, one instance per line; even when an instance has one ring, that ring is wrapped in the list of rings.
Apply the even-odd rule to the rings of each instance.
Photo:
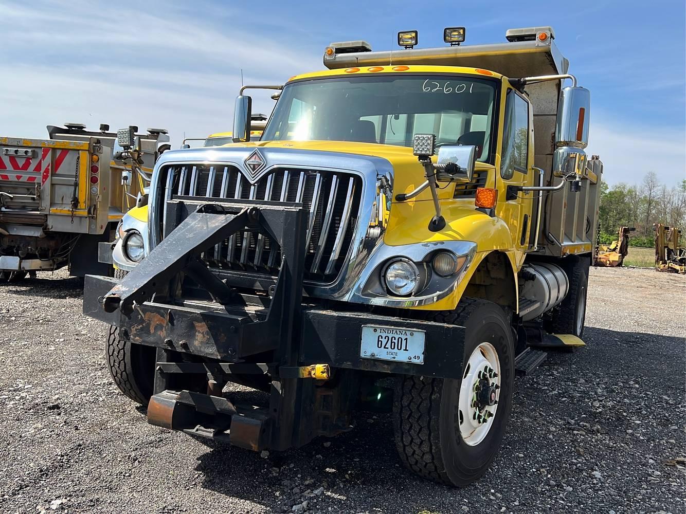
[[[98,243],[114,228],[145,186],[117,155],[108,125],[91,132],[67,123],[47,127],[48,139],[0,138],[0,277],[69,266],[75,276],[108,273]],[[162,129],[137,134],[143,173],[169,148]],[[115,158],[116,157],[116,158]]]

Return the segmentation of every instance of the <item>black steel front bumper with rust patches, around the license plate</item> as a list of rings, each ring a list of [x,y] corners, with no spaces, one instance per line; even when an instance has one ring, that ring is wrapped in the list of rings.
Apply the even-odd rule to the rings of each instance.
[[[255,313],[237,308],[202,310],[146,302],[127,317],[119,310],[106,313],[102,298],[117,279],[86,276],[84,314],[121,330],[121,336],[134,343],[176,350],[227,363],[245,362],[259,353],[263,345],[246,330]],[[296,341],[300,366],[328,364],[332,368],[383,371],[405,375],[460,378],[464,328],[443,323],[417,321],[370,313],[340,313],[316,307],[302,308],[302,328]],[[426,332],[424,364],[375,360],[359,356],[363,325],[408,328]],[[283,341],[286,343],[287,341]]]

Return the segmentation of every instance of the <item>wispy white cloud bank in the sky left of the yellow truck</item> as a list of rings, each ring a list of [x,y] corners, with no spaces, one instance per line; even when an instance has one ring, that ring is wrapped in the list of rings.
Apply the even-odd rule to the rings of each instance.
[[[150,5],[3,5],[0,134],[42,138],[45,125],[67,121],[139,125],[167,128],[177,146],[184,134],[231,130],[241,69],[246,84],[281,84],[321,67],[317,53],[251,34],[233,8],[208,20],[173,3]],[[273,101],[255,93],[253,106],[270,112]]]

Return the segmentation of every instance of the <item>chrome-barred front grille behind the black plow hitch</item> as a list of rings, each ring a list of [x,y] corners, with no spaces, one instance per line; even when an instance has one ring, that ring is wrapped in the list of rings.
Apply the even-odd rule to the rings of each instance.
[[[250,184],[237,167],[185,164],[161,171],[163,198],[202,197],[302,202],[309,212],[305,279],[333,281],[348,255],[362,197],[352,173],[276,168]],[[165,223],[165,221],[163,221]],[[167,227],[163,233],[168,233]],[[202,255],[212,269],[276,276],[281,252],[266,234],[241,231]]]

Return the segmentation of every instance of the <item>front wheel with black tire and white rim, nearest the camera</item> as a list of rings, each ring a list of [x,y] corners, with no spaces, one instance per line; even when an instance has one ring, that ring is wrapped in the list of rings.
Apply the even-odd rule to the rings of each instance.
[[[431,321],[466,328],[462,380],[398,378],[393,405],[397,450],[405,467],[419,476],[466,487],[493,462],[510,417],[514,384],[512,329],[504,310],[482,299],[462,299],[456,310],[431,313]],[[484,360],[487,355],[490,360]],[[488,382],[479,393],[473,393],[486,393],[488,401],[482,404],[482,397],[479,402],[472,401],[469,389],[473,391],[482,383],[481,379],[473,380],[486,372],[477,369],[477,363],[494,359],[497,365],[492,367],[499,371],[497,377],[484,380],[493,380],[494,384],[497,381],[498,389]],[[465,398],[471,403],[465,403]],[[495,404],[490,404],[493,401]],[[487,417],[486,422],[477,423],[477,409]],[[472,430],[473,426],[476,428]]]

